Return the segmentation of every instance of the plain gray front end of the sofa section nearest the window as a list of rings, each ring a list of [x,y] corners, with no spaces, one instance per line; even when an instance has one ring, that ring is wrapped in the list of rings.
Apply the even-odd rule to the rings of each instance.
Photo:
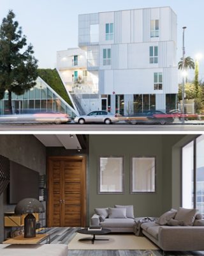
[[[164,251],[200,251],[204,250],[204,227],[168,227],[159,228],[159,246]]]

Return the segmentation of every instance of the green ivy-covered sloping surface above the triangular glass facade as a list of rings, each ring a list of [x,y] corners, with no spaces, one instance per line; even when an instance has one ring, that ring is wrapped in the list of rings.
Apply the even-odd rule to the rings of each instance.
[[[61,78],[59,77],[59,74],[57,73],[57,70],[55,69],[38,69],[38,76],[41,77],[47,83],[55,92],[57,92],[62,99],[64,99],[70,106],[71,100],[68,97],[68,93],[66,92],[66,89],[64,88],[64,84],[62,84]]]

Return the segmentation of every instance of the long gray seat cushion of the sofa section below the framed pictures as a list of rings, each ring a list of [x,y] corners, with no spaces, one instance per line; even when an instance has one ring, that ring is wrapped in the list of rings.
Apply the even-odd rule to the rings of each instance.
[[[101,227],[106,227],[106,228],[133,228],[134,226],[135,226],[135,221],[129,218],[126,218],[126,219],[107,218],[105,221],[101,222]]]

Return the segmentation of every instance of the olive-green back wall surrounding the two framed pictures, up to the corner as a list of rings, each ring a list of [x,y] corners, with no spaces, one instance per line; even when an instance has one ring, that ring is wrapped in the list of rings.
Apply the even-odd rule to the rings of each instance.
[[[114,204],[134,205],[135,216],[157,216],[162,212],[163,152],[161,135],[91,135],[89,138],[89,213],[95,207]],[[98,157],[124,156],[124,195],[98,195]],[[157,192],[130,195],[129,170],[131,156],[156,156]]]

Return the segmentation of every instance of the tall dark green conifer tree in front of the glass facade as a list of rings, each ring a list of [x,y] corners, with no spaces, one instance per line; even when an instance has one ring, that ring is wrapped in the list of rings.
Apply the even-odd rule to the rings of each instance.
[[[7,90],[10,113],[13,113],[11,93],[24,94],[33,88],[38,77],[33,46],[27,46],[22,28],[14,19],[15,14],[10,10],[0,27],[0,99]]]

